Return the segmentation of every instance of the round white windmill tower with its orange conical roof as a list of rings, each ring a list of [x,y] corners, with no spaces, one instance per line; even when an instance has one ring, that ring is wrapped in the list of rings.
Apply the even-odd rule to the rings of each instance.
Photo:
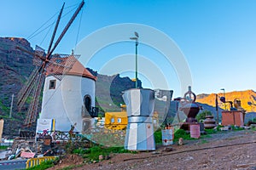
[[[68,58],[73,57],[73,55]],[[65,58],[61,58],[65,59]],[[55,60],[61,60],[55,58]],[[75,131],[83,132],[90,127],[91,116],[97,116],[95,108],[96,77],[90,74],[76,60],[72,69],[60,81],[54,67],[48,67],[45,77],[41,116],[38,119],[37,132],[44,122],[55,121],[55,130],[67,132],[76,123]]]

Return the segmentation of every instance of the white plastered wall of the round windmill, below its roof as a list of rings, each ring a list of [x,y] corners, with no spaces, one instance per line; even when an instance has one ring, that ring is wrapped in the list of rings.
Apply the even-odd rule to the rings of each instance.
[[[50,80],[56,80],[55,89],[49,89]],[[55,119],[59,131],[69,131],[77,123],[75,131],[81,132],[85,95],[90,95],[91,106],[95,106],[95,81],[90,78],[67,75],[59,81],[46,77],[40,118]]]

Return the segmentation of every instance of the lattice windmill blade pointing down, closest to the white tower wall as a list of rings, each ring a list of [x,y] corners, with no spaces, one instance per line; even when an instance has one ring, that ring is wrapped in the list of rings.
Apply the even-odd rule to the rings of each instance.
[[[24,126],[30,127],[32,122],[35,122],[38,116],[38,103],[41,95],[41,91],[44,84],[44,73],[41,73],[36,80],[38,82],[34,93],[32,95],[32,101],[29,105],[29,110],[26,114],[26,120],[24,122]]]

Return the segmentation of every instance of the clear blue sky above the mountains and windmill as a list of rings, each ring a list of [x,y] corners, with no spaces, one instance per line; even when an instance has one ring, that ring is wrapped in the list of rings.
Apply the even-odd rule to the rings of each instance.
[[[56,19],[56,13],[63,2],[62,0],[0,1],[0,36],[28,38],[54,14],[54,20]],[[65,2],[67,8],[63,14],[78,6],[80,0]],[[224,88],[226,92],[246,89],[255,91],[256,1],[88,0],[84,2],[82,13],[67,31],[55,53],[70,53],[84,37],[105,26],[122,23],[143,24],[166,33],[176,42],[188,62],[193,81],[192,90],[195,94],[220,93],[222,92],[220,88]],[[71,14],[73,12],[61,19],[58,34]],[[46,25],[48,26],[49,23]],[[53,29],[53,26],[51,28]],[[52,29],[48,34],[48,30],[45,30],[38,36],[29,38],[32,48],[35,44],[48,48]],[[143,31],[139,34],[143,34]],[[133,32],[131,32],[132,36]],[[127,39],[129,40],[129,37]],[[120,55],[134,54],[134,49],[132,41],[119,42],[102,49],[96,54],[95,60],[86,66],[104,74],[101,72],[104,62]],[[140,56],[150,59],[162,69],[169,86],[176,93],[175,96],[182,95],[177,72],[172,65],[166,65],[161,54],[143,44],[138,46],[138,52]],[[83,57],[80,57],[82,63]],[[139,68],[140,65],[142,66],[143,63],[139,63]],[[171,68],[167,71],[166,67]],[[133,74],[128,71],[121,75],[133,78]],[[139,74],[139,78],[143,79],[144,87],[151,88],[150,81],[147,82],[143,74]]]

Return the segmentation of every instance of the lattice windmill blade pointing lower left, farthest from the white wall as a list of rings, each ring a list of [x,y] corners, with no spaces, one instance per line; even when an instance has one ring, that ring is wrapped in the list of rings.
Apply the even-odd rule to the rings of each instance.
[[[28,78],[28,81],[26,82],[26,85],[23,86],[18,94],[18,108],[19,110],[24,105],[27,97],[29,94],[32,93],[32,89],[35,87],[35,83],[38,77],[38,67],[36,67],[33,71],[30,77]]]

